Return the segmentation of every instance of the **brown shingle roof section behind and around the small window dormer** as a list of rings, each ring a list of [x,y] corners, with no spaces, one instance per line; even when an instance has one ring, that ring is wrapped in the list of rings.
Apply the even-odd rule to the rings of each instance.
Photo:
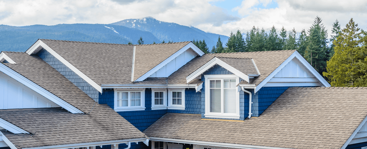
[[[214,57],[219,57],[219,59],[221,59],[222,61],[224,60],[224,62],[236,69],[239,69],[239,71],[247,72],[247,70],[241,63],[244,63],[246,61],[245,64],[249,64],[247,67],[254,67],[254,64],[252,62],[250,64],[251,60],[248,60],[254,59],[254,62],[261,75],[250,79],[250,84],[258,85],[294,52],[295,50],[281,50],[205,54],[201,57],[195,57],[190,62],[179,68],[177,71],[173,72],[167,79],[169,84],[186,84],[186,77],[188,75],[209,62]],[[257,74],[257,71],[254,70],[254,68],[250,68],[250,70],[251,74]]]

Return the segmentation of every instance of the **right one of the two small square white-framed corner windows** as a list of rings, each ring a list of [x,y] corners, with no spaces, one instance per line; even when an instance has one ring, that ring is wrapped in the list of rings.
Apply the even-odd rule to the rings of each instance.
[[[185,88],[168,88],[168,109],[185,110]]]

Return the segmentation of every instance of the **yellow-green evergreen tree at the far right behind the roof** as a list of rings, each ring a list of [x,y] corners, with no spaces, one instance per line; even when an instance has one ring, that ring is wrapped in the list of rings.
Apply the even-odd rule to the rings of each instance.
[[[335,53],[323,73],[331,86],[367,86],[367,39],[359,30],[352,18],[333,41]]]

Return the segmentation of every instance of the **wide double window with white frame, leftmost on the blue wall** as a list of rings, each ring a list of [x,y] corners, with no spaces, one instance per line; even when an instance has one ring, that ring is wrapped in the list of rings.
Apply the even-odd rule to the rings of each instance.
[[[145,89],[115,89],[115,111],[138,111],[145,109]]]

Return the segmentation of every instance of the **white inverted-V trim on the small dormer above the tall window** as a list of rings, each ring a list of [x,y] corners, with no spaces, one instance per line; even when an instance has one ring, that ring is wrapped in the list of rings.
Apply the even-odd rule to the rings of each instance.
[[[237,70],[236,68],[233,68],[229,64],[223,62],[222,60],[218,59],[217,57],[214,57],[209,62],[192,72],[190,75],[186,77],[186,82],[189,83],[193,79],[195,79],[197,76],[203,74],[205,71],[207,71],[209,68],[213,67],[214,65],[218,64],[219,66],[222,66],[226,70],[232,72],[233,74],[239,76],[240,78],[244,79],[246,82],[250,82],[250,79],[248,78],[248,75],[244,74],[243,72]]]

